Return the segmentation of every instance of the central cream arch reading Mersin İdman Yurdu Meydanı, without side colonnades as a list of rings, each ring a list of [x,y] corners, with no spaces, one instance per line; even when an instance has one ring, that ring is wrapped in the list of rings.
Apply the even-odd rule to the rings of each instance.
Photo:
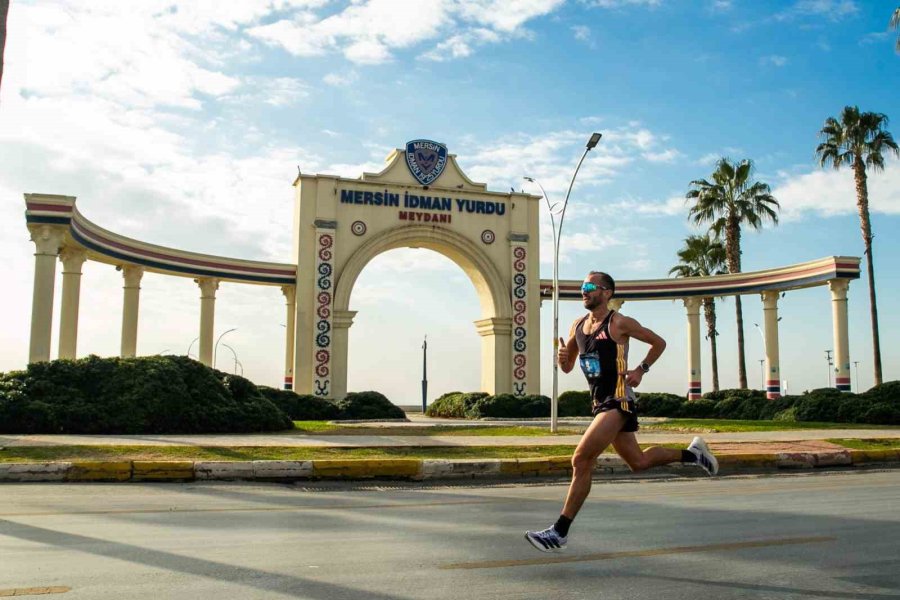
[[[428,248],[459,265],[478,293],[481,389],[538,393],[539,196],[489,192],[426,140],[393,151],[380,173],[300,175],[294,185],[296,391],[346,394],[357,277],[382,252]]]

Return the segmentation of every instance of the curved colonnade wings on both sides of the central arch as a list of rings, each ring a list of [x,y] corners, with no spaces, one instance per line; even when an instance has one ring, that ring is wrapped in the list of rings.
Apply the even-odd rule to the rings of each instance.
[[[281,287],[286,298],[285,387],[291,389],[294,369],[294,322],[297,265],[269,263],[185,252],[133,240],[94,225],[75,207],[75,197],[25,194],[26,223],[35,243],[29,362],[50,360],[56,262],[62,263],[59,358],[75,358],[81,268],[86,260],[114,265],[123,276],[121,356],[135,356],[144,272],[194,279],[200,288],[200,361],[212,364],[216,290],[221,281]],[[390,247],[394,245],[388,244]],[[399,247],[399,246],[398,246]],[[703,298],[760,294],[764,308],[767,388],[770,398],[781,394],[778,364],[778,298],[782,292],[828,285],[832,298],[835,381],[850,390],[847,290],[859,278],[859,258],[828,257],[816,261],[734,275],[686,279],[619,281],[612,308],[625,301],[682,300],[688,321],[688,395],[699,398],[700,306]],[[340,282],[339,282],[340,285]],[[561,281],[560,299],[581,300],[580,281]],[[342,289],[347,288],[344,286]],[[345,290],[349,299],[349,289]],[[541,300],[552,295],[552,281],[541,280]]]

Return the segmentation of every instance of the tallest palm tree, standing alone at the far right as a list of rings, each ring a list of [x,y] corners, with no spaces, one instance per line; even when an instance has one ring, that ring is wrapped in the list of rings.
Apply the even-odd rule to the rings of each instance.
[[[900,155],[893,136],[884,128],[888,118],[880,113],[860,113],[858,106],[845,106],[840,121],[834,117],[825,120],[819,136],[825,141],[816,148],[816,156],[823,167],[835,169],[849,166],[856,181],[856,208],[859,225],[866,247],[866,266],[869,271],[869,312],[872,318],[872,347],[875,354],[875,385],[881,383],[881,342],[878,339],[878,306],[875,302],[875,267],[872,258],[872,223],[869,219],[869,189],[866,169],[884,169],[885,150]]]

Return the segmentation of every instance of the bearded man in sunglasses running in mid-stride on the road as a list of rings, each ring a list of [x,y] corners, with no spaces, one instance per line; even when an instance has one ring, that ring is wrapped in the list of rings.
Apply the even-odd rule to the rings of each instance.
[[[632,471],[643,471],[674,462],[696,464],[715,475],[719,464],[702,438],[695,437],[686,450],[653,447],[641,450],[634,432],[638,429],[637,402],[633,388],[659,359],[666,342],[631,317],[607,308],[616,293],[616,282],[600,271],[591,271],[581,284],[581,297],[588,314],[576,320],[569,341],[559,339],[557,361],[564,373],[581,364],[591,390],[594,420],[584,432],[572,456],[572,483],[562,514],[543,531],[526,531],[525,539],[541,552],[566,547],[569,526],[591,491],[591,474],[597,457],[610,444]],[[628,370],[628,341],[634,338],[650,345],[643,362]]]

